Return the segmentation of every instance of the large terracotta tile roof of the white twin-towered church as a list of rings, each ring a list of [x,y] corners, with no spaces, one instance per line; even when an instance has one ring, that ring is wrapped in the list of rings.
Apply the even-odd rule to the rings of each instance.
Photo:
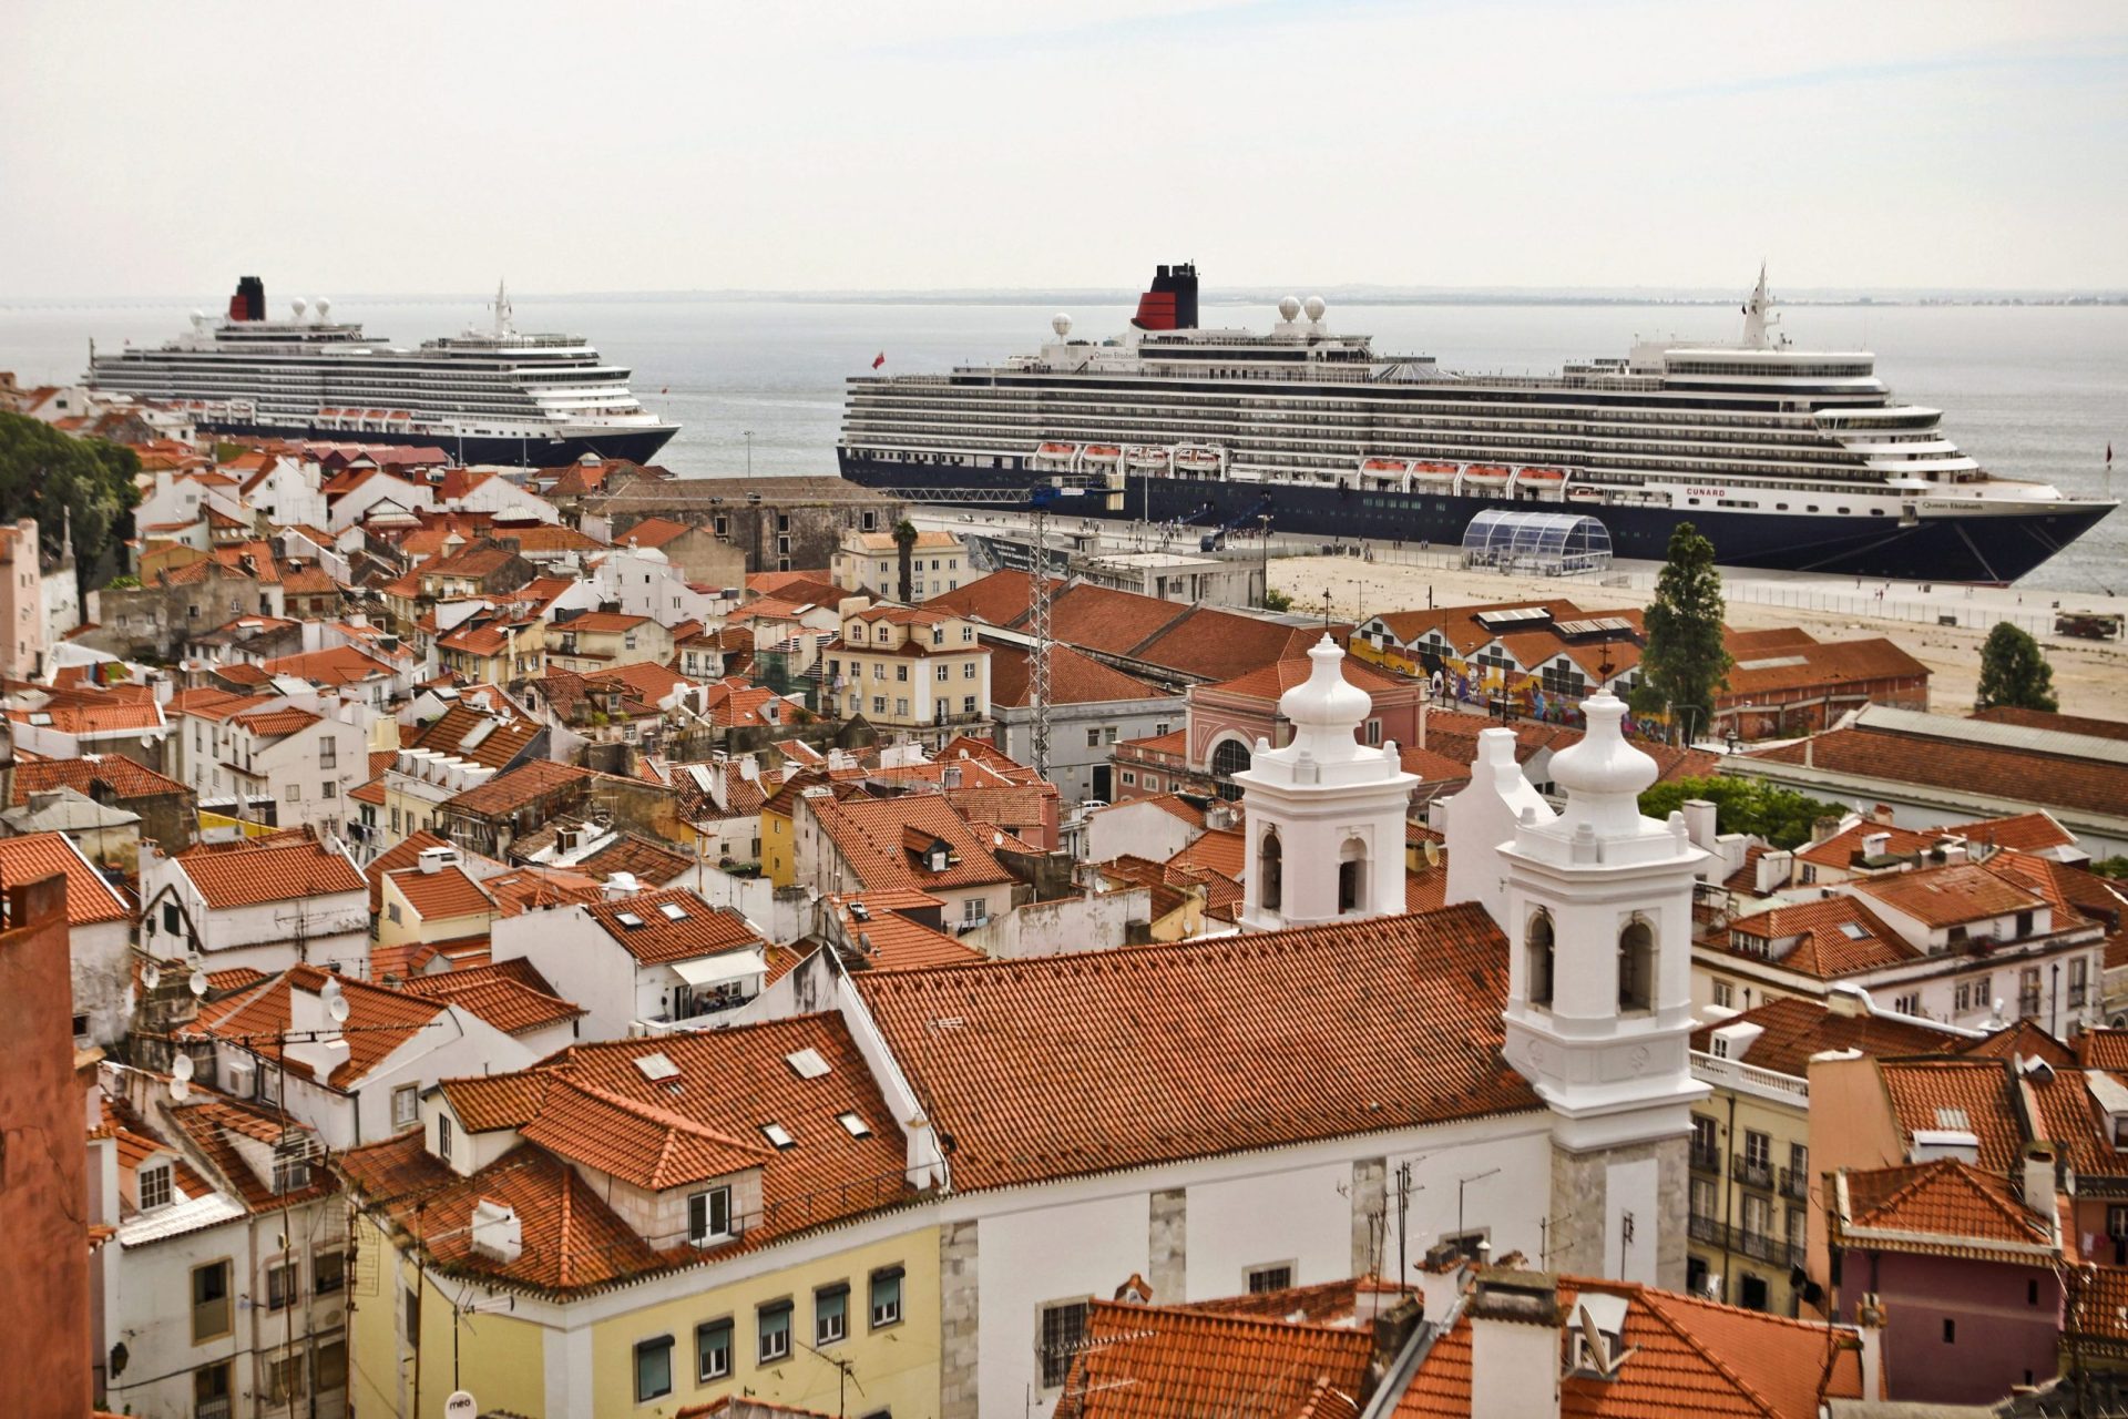
[[[1473,904],[855,983],[924,1059],[960,1187],[1539,1106],[1500,1057],[1507,947]]]

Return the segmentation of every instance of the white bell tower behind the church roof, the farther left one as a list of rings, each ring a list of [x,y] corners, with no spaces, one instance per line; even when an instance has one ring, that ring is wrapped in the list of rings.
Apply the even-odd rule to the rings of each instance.
[[[1343,662],[1326,634],[1309,651],[1309,679],[1279,696],[1294,740],[1258,740],[1234,774],[1249,838],[1241,923],[1251,932],[1404,911],[1404,813],[1417,777],[1394,742],[1360,742],[1375,702],[1345,681]]]

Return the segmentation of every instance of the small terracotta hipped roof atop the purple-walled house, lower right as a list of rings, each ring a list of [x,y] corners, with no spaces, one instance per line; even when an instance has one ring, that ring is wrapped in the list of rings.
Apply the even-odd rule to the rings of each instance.
[[[2009,1183],[1958,1157],[1905,1168],[1843,1170],[1834,1191],[1832,1245],[2026,1259],[2060,1257],[2051,1198],[2047,1217],[2026,1211]]]

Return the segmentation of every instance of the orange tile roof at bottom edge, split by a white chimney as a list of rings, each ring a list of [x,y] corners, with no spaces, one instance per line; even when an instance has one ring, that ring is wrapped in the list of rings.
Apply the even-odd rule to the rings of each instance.
[[[1860,1357],[1849,1349],[1832,1351],[1824,1325],[1626,1281],[1562,1276],[1558,1296],[1566,1319],[1577,1315],[1583,1293],[1626,1298],[1622,1342],[1628,1353],[1613,1379],[1562,1379],[1562,1419],[1815,1419],[1828,1351],[1826,1398],[1862,1398]],[[1562,1336],[1562,1372],[1566,1342]],[[1434,1340],[1390,1413],[1392,1419],[1470,1419],[1468,1313]]]

